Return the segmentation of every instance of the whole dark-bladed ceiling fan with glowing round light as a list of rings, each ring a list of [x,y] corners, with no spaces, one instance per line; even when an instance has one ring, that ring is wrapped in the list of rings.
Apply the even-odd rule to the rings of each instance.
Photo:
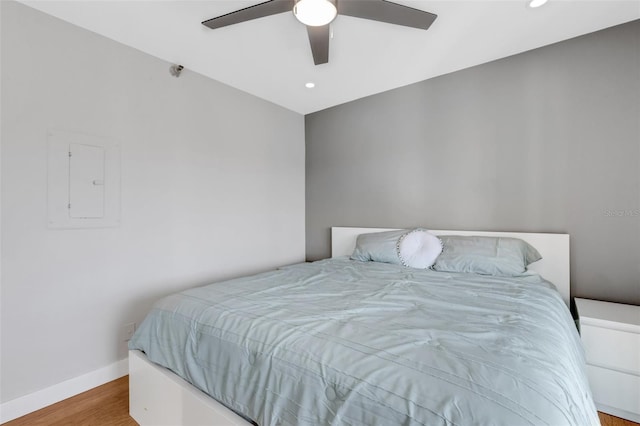
[[[338,14],[423,30],[437,18],[433,13],[386,0],[270,0],[208,19],[202,24],[216,29],[289,11],[307,26],[316,65],[329,62],[329,24]]]

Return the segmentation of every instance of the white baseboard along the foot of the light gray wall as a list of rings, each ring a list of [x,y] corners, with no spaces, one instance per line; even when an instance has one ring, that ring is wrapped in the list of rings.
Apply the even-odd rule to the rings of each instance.
[[[56,402],[119,379],[129,373],[127,359],[74,377],[62,383],[7,401],[0,405],[0,423],[5,423],[32,413]]]

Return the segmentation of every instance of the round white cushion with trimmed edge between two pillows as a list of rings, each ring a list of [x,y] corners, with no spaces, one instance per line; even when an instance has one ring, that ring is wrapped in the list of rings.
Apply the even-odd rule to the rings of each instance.
[[[428,269],[442,253],[442,241],[424,229],[414,229],[400,237],[397,250],[404,266]]]

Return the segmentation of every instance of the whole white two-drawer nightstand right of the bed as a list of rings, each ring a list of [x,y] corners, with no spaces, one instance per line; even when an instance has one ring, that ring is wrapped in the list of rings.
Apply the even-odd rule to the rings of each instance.
[[[640,306],[575,301],[596,407],[640,423]]]

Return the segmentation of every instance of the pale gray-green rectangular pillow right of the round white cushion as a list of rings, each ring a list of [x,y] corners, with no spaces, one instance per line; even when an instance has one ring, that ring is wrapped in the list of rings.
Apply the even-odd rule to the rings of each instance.
[[[481,275],[515,276],[542,259],[526,241],[505,237],[440,236],[442,253],[433,269]]]

